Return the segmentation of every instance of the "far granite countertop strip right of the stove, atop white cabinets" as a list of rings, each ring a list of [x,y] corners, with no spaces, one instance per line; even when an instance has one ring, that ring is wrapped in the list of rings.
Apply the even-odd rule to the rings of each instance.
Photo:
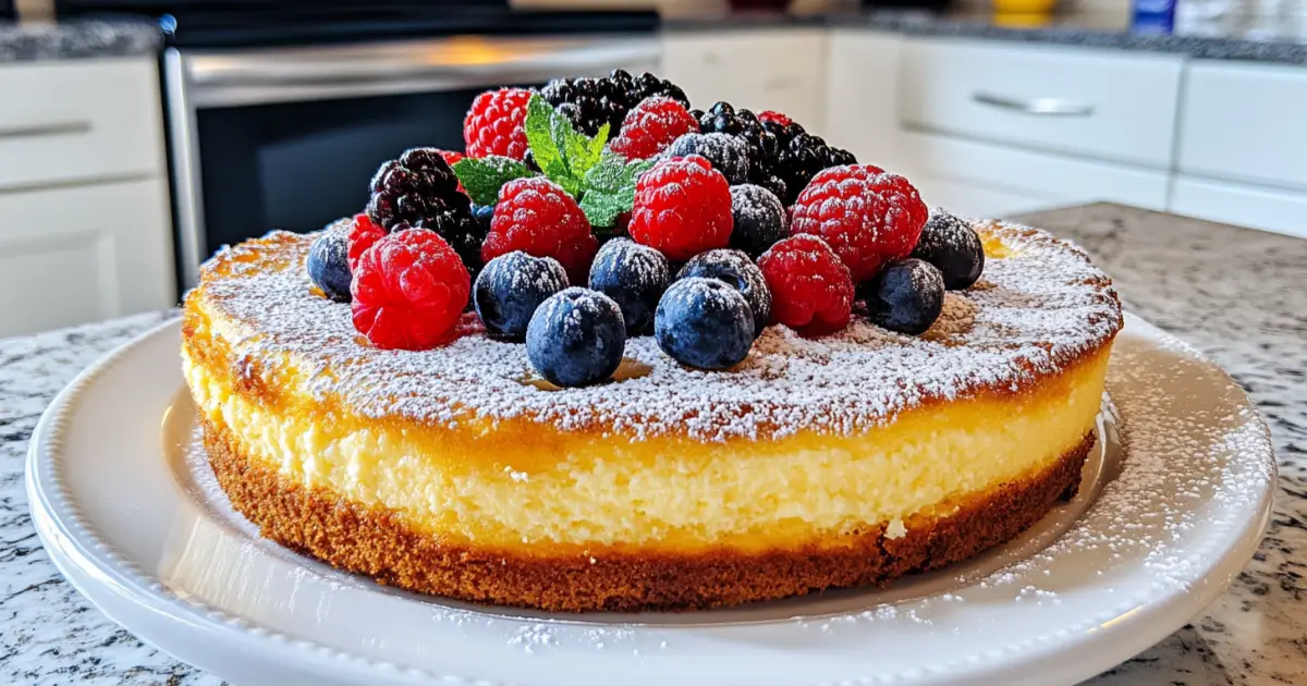
[[[1030,20],[1026,20],[1030,21]],[[1307,26],[1307,18],[1303,20]],[[980,38],[1022,43],[1174,52],[1199,59],[1248,60],[1276,64],[1307,64],[1307,27],[1274,17],[1242,16],[1219,25],[1193,25],[1174,34],[1131,29],[1121,13],[1053,14],[1046,21],[1022,24],[993,13],[954,12],[935,14],[911,10],[833,12],[788,14],[783,12],[732,12],[680,16],[664,22],[668,31],[758,30],[767,27],[846,27],[893,31],[906,35]]]

